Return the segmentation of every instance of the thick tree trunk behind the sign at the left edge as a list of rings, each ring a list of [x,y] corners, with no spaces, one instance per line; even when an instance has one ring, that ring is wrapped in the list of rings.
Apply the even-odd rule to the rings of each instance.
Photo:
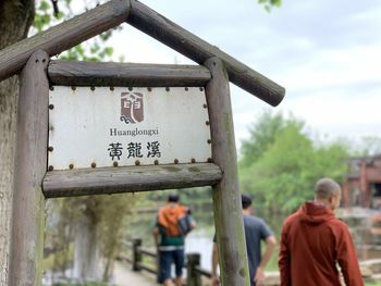
[[[0,49],[25,38],[34,15],[34,0],[0,1]],[[17,84],[17,76],[0,83],[0,285],[8,285]]]

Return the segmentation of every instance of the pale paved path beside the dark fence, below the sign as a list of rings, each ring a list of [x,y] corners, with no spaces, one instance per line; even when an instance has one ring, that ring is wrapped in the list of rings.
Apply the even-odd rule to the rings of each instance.
[[[152,286],[160,285],[156,283],[156,276],[145,271],[134,272],[131,264],[118,262],[113,273],[113,283],[118,286]]]

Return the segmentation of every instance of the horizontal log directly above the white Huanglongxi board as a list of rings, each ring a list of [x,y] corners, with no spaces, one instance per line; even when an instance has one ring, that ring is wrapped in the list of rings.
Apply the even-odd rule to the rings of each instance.
[[[51,61],[51,85],[65,86],[205,86],[211,75],[200,65]]]

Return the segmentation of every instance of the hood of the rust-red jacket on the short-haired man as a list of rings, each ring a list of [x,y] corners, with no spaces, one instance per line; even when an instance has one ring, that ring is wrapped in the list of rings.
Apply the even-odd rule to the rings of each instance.
[[[300,215],[302,222],[310,225],[319,225],[335,219],[332,210],[317,204],[314,201],[304,203],[298,210],[298,214]]]

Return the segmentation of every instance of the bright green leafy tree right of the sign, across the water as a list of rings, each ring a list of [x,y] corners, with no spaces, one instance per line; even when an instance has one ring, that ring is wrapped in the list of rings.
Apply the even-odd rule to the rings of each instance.
[[[329,176],[341,182],[346,172],[346,146],[317,146],[303,126],[295,119],[267,112],[250,130],[253,141],[243,146],[242,189],[254,196],[261,214],[285,215],[312,198],[317,179]]]

